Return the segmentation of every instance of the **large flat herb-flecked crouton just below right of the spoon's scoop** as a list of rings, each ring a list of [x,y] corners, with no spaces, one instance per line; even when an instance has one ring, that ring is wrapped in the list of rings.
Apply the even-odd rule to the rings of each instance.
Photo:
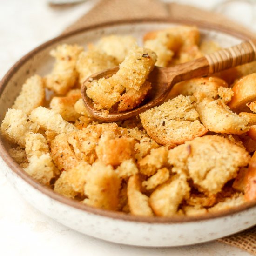
[[[162,145],[179,145],[207,133],[200,123],[192,97],[179,95],[140,114],[150,138]]]

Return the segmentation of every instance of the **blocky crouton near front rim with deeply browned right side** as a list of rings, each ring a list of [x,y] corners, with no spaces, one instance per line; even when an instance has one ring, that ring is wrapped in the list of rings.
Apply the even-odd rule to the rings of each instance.
[[[95,162],[88,172],[84,194],[88,196],[83,202],[102,209],[116,210],[120,180],[111,165]]]

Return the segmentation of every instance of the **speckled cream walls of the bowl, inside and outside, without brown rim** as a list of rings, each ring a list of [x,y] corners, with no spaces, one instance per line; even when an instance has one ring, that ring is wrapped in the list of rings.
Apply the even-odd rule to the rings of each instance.
[[[142,23],[132,25],[119,24],[115,27],[98,28],[63,39],[45,47],[13,74],[3,94],[0,96],[0,121],[7,108],[10,108],[20,91],[23,82],[32,74],[47,74],[53,65],[49,51],[60,43],[78,43],[86,46],[107,34],[131,34],[139,39],[147,31],[169,27],[166,23]],[[203,38],[218,41],[223,47],[239,43],[241,40],[232,36],[202,30]],[[113,219],[95,215],[81,209],[59,202],[35,189],[0,158],[1,169],[20,195],[27,199],[35,208],[58,222],[89,236],[103,240],[138,245],[138,246],[179,246],[202,243],[219,237],[228,236],[255,224],[256,207],[243,210],[229,216],[192,222],[148,223]]]

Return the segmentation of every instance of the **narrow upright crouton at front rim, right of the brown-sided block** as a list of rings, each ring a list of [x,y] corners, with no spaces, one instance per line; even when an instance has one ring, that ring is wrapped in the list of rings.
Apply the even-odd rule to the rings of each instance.
[[[132,215],[153,216],[149,206],[149,198],[141,193],[141,181],[138,175],[133,175],[128,180],[128,204]]]

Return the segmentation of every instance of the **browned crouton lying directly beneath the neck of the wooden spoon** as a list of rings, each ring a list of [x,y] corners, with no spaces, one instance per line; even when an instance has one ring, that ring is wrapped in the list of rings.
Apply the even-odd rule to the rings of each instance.
[[[180,94],[191,96],[196,92],[215,98],[218,95],[218,88],[220,87],[228,87],[228,84],[217,77],[192,78],[175,84],[171,89],[168,98],[175,98]]]

